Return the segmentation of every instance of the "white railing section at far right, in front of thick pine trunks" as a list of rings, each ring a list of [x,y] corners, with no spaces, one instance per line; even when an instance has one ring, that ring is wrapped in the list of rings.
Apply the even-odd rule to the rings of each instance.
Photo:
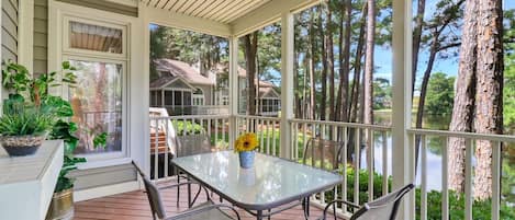
[[[428,219],[428,159],[427,148],[430,139],[440,139],[438,144],[441,150],[441,219],[448,220],[450,215],[450,190],[449,190],[449,139],[457,138],[464,142],[464,216],[461,217],[466,220],[474,219],[472,216],[473,206],[473,157],[474,143],[477,141],[489,141],[492,146],[492,198],[491,198],[491,218],[493,220],[502,219],[500,216],[501,207],[501,154],[502,146],[507,147],[507,143],[515,143],[514,136],[502,135],[485,135],[472,132],[452,132],[443,130],[426,130],[426,129],[408,129],[411,146],[415,148],[415,137],[419,136],[421,150],[419,150],[419,183],[421,183],[421,206],[416,207],[419,210],[421,220]],[[413,176],[414,177],[414,176]]]

